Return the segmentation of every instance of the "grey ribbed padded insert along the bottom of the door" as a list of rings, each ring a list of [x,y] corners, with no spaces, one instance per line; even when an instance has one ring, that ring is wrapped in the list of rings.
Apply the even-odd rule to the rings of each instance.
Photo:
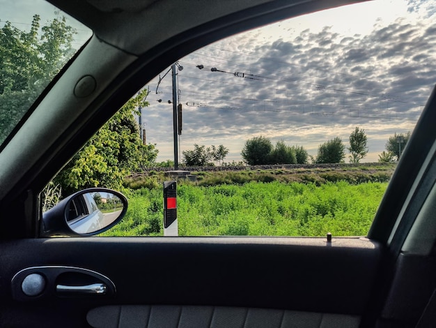
[[[94,328],[333,328],[359,327],[359,316],[224,306],[123,305],[94,308]]]

